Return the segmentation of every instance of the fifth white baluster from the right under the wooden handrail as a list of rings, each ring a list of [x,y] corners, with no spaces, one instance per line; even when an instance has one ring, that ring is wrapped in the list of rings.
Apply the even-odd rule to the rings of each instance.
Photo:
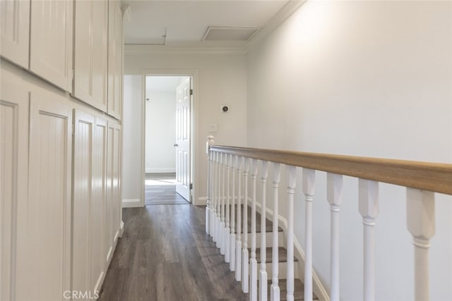
[[[297,183],[297,168],[287,166],[289,186],[287,187],[287,301],[294,300],[294,192]]]

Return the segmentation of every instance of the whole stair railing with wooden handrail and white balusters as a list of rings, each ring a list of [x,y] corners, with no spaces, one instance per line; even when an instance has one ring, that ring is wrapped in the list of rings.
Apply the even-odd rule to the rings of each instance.
[[[331,209],[331,300],[340,300],[339,213],[343,176],[359,179],[359,213],[364,227],[363,300],[375,299],[374,226],[379,214],[379,183],[407,188],[407,225],[415,251],[415,300],[429,300],[429,241],[434,236],[434,192],[452,195],[452,164],[436,164],[358,156],[314,154],[273,149],[213,145],[208,137],[208,204],[206,233],[213,237],[221,254],[229,253],[230,270],[242,281],[250,300],[267,300],[266,271],[266,178],[273,167],[273,235],[270,300],[280,300],[278,286],[278,189],[280,166],[288,173],[287,187],[287,300],[294,300],[293,202],[297,168],[302,168],[305,196],[304,300],[313,298],[312,204],[316,171],[327,173],[327,200]],[[261,269],[256,261],[256,179],[261,162]],[[248,250],[248,183],[251,166],[251,258]],[[232,172],[232,183],[230,181]],[[237,183],[236,177],[237,176]],[[235,189],[237,185],[237,190]],[[227,186],[227,187],[226,187]],[[230,195],[232,186],[232,195]],[[243,188],[243,190],[242,190]],[[225,192],[226,190],[226,192]],[[234,204],[237,199],[237,216]],[[230,200],[232,210],[230,210]],[[243,204],[243,206],[242,206]],[[243,214],[242,214],[243,209]],[[235,221],[234,221],[235,219]],[[234,226],[234,223],[237,223]],[[242,231],[243,226],[243,231]],[[235,240],[232,242],[232,240]],[[225,248],[229,247],[226,251]],[[234,255],[232,255],[234,254]],[[234,259],[232,259],[234,257]],[[234,263],[232,261],[234,260]],[[249,267],[251,271],[249,271]],[[259,285],[258,285],[259,284]],[[251,288],[251,291],[249,291]],[[259,293],[258,293],[259,292]]]

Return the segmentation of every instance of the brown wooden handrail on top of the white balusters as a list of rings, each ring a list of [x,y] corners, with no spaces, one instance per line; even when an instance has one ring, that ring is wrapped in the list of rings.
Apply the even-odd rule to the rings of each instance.
[[[452,195],[452,164],[210,145],[214,152]]]

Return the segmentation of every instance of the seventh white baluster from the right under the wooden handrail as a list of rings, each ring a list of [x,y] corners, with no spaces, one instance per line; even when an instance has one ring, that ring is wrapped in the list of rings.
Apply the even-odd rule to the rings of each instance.
[[[266,242],[266,183],[268,176],[268,161],[262,161],[261,184],[262,184],[262,207],[261,207],[261,271],[259,273],[259,300],[267,301],[267,271],[266,271],[266,257],[267,257],[267,242]]]

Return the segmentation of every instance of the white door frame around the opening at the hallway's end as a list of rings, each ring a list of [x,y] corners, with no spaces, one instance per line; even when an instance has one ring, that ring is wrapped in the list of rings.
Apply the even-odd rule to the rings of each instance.
[[[146,76],[189,76],[192,80],[193,85],[193,96],[191,98],[191,183],[194,183],[194,154],[196,154],[196,130],[197,126],[195,120],[198,116],[198,70],[196,69],[141,69],[141,111],[142,113],[142,122],[141,122],[141,206],[145,206],[145,145],[146,145]],[[191,190],[191,204],[196,205],[195,199],[195,189],[196,186],[193,185],[193,189]]]

